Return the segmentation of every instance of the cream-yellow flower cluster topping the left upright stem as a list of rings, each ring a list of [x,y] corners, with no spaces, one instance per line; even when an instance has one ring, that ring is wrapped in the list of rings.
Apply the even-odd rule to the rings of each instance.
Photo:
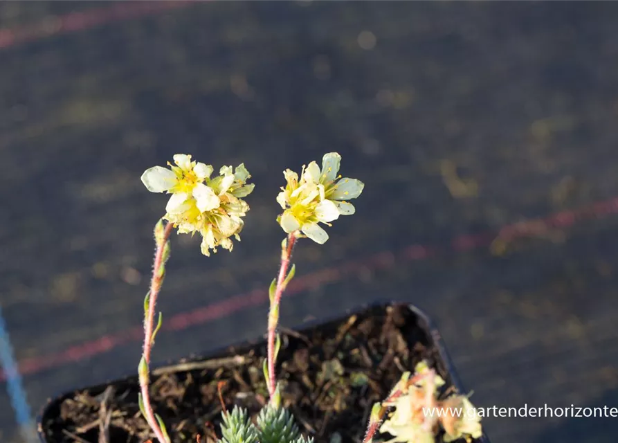
[[[179,233],[200,233],[204,255],[210,255],[210,249],[217,252],[217,246],[232,251],[230,237],[240,240],[242,217],[249,210],[242,197],[251,194],[254,187],[246,183],[251,175],[244,164],[235,170],[224,166],[211,179],[212,166],[191,161],[190,155],[176,154],[174,163],[167,163],[170,169],[149,168],[141,177],[150,192],[172,194],[163,219],[174,224]]]

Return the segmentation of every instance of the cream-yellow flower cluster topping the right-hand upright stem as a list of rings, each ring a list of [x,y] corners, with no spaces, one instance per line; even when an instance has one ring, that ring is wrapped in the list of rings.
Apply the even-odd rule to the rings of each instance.
[[[300,230],[318,244],[324,244],[328,234],[318,222],[329,225],[339,215],[354,214],[354,206],[346,200],[355,199],[365,187],[362,181],[338,176],[341,156],[336,152],[325,154],[322,169],[315,161],[303,166],[298,174],[285,170],[287,186],[277,196],[284,210],[277,219],[286,233]],[[330,225],[329,225],[330,226]]]

